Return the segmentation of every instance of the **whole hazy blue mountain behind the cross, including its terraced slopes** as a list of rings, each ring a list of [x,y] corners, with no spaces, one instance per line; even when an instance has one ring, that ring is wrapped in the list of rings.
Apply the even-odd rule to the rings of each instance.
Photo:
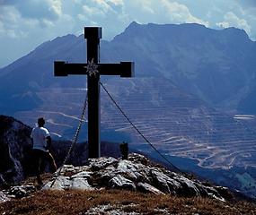
[[[29,125],[47,116],[52,133],[70,137],[84,102],[86,77],[53,77],[53,62],[85,62],[85,50],[84,36],[67,35],[1,69],[2,114]],[[104,77],[102,82],[159,150],[196,159],[199,163],[178,163],[190,170],[198,165],[202,176],[206,168],[232,169],[229,176],[219,173],[216,182],[232,180],[253,194],[256,124],[254,116],[242,115],[256,110],[255,56],[256,43],[243,30],[132,22],[113,40],[102,40],[101,62],[135,61],[136,78]],[[153,153],[103,92],[102,139],[126,140]]]

